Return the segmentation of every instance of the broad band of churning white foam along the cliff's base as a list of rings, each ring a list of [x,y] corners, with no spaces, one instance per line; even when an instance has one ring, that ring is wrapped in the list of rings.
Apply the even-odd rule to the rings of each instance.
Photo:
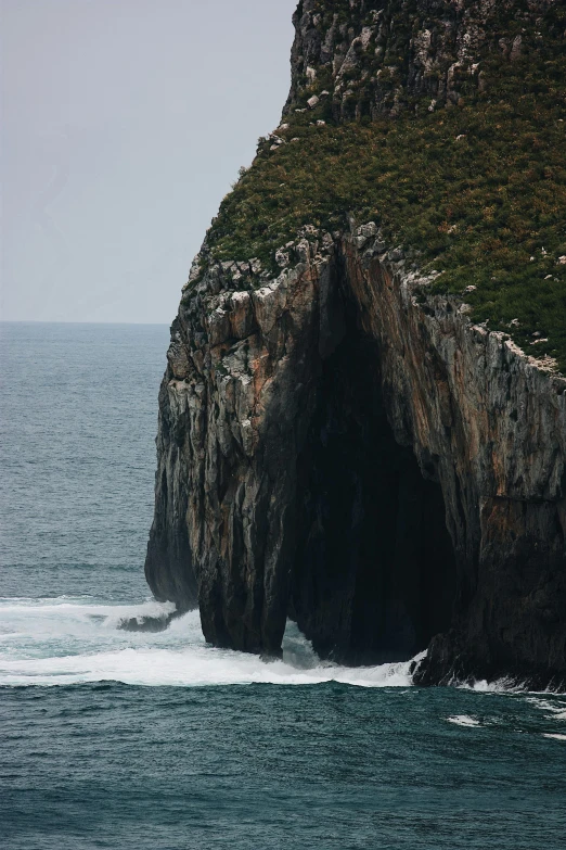
[[[0,599],[0,685],[411,684],[411,662],[366,668],[321,662],[292,623],[285,632],[283,659],[270,662],[207,645],[196,611],[172,620],[158,633],[118,627],[131,618],[165,619],[172,610],[155,601],[101,605],[88,597]]]

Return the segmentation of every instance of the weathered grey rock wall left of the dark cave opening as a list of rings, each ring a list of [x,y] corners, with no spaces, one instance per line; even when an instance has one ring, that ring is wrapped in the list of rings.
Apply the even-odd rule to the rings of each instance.
[[[179,548],[172,571],[188,588],[196,583],[207,639],[267,654],[280,651],[287,614],[293,459],[314,398],[318,293],[330,272],[326,265],[321,283],[303,249],[307,262],[259,289],[244,264],[214,267],[194,291],[190,282],[162,388],[166,474],[157,473],[147,581],[158,598],[196,601],[157,579],[177,557],[169,530],[173,540],[188,535],[191,557]],[[179,435],[175,448],[169,433]]]

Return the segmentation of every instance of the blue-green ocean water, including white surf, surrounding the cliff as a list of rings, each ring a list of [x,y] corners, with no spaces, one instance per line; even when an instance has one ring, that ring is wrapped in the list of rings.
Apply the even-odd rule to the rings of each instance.
[[[160,326],[1,325],[0,847],[564,850],[566,697],[282,661],[166,617],[143,558]]]

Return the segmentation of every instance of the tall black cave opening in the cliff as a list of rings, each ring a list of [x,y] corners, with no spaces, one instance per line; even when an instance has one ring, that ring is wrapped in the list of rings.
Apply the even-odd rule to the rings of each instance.
[[[297,470],[290,616],[319,654],[357,664],[425,649],[450,626],[455,584],[440,485],[395,441],[378,364],[350,315]]]

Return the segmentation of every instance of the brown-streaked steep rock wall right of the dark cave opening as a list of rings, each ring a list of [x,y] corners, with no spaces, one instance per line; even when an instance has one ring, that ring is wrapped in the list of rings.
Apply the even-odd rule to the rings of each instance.
[[[454,547],[452,631],[419,681],[564,683],[566,381],[471,326],[465,305],[420,296],[416,274],[347,254],[396,440],[440,482]]]

